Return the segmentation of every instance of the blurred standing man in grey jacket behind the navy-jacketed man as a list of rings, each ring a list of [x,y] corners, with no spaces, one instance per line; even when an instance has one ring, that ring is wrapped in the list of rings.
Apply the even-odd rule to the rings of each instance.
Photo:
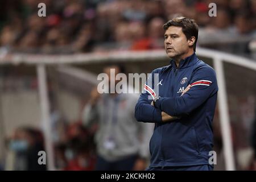
[[[109,76],[109,89],[115,88],[117,80],[110,77],[122,68],[113,65],[104,68]],[[115,82],[114,85],[110,82]],[[107,84],[107,82],[106,82]],[[112,89],[113,89],[112,88]],[[151,125],[139,123],[134,118],[137,96],[133,94],[102,94],[93,89],[88,105],[84,109],[83,122],[87,127],[98,124],[96,133],[96,170],[144,170],[148,160],[148,142],[152,134]]]

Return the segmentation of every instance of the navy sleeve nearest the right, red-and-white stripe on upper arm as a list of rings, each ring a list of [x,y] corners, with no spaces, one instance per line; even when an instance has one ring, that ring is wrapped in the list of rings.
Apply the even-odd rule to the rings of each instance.
[[[202,66],[195,70],[191,89],[181,97],[160,97],[156,107],[169,115],[189,114],[218,91],[216,73],[213,68]]]

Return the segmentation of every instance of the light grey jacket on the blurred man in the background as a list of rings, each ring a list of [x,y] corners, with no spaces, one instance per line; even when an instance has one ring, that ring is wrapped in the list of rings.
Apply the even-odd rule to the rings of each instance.
[[[148,144],[154,125],[134,118],[138,97],[137,94],[114,97],[102,94],[95,106],[85,106],[82,121],[86,127],[98,122],[95,141],[97,153],[104,159],[114,161],[133,154],[149,158]],[[109,140],[112,142],[106,142]]]

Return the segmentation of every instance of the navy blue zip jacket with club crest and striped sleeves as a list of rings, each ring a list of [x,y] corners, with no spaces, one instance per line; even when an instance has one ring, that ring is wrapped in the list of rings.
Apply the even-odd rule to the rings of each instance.
[[[159,73],[159,100],[151,106],[149,94],[142,92],[135,106],[135,118],[140,122],[155,123],[150,140],[150,167],[193,166],[209,164],[213,147],[212,121],[217,101],[217,80],[212,67],[199,60],[195,53],[155,69]],[[154,77],[154,76],[153,76]],[[148,82],[148,80],[147,80]],[[191,84],[191,89],[181,96]],[[162,122],[161,112],[179,116],[171,122]]]

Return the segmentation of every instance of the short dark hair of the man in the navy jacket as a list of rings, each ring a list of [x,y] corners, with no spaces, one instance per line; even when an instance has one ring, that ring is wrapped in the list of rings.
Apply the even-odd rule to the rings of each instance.
[[[185,34],[186,38],[189,39],[192,36],[195,36],[196,40],[193,44],[193,49],[196,51],[196,42],[198,38],[198,25],[195,20],[185,18],[184,16],[180,16],[177,18],[173,18],[169,20],[167,23],[163,25],[164,30],[167,30],[169,27],[182,27],[182,32]]]

